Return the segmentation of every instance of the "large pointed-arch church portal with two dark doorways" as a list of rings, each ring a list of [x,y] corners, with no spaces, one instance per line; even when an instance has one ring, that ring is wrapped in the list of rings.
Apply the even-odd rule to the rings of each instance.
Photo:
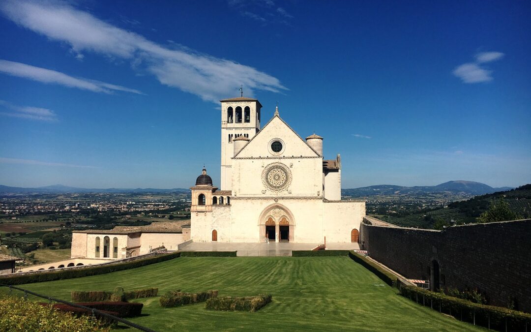
[[[294,240],[295,218],[292,211],[281,204],[265,208],[258,219],[260,242],[290,242]],[[274,234],[273,234],[274,231]]]

